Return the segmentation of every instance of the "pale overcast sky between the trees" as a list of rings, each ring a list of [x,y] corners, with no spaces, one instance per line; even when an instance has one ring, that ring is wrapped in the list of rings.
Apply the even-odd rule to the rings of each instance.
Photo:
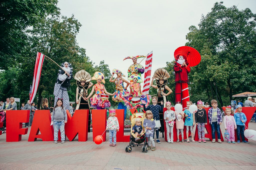
[[[207,15],[215,2],[59,0],[58,7],[62,15],[70,17],[74,14],[82,24],[77,41],[80,47],[86,49],[87,56],[95,65],[105,60],[110,71],[119,69],[127,78],[127,69],[132,60],[123,61],[125,57],[147,55],[153,51],[153,76],[157,68],[165,67],[167,61],[174,59],[175,49],[187,42],[188,28],[198,26],[201,15]],[[226,7],[238,5],[239,10],[250,8],[256,13],[255,0],[223,2]],[[142,65],[145,65],[145,59]]]

